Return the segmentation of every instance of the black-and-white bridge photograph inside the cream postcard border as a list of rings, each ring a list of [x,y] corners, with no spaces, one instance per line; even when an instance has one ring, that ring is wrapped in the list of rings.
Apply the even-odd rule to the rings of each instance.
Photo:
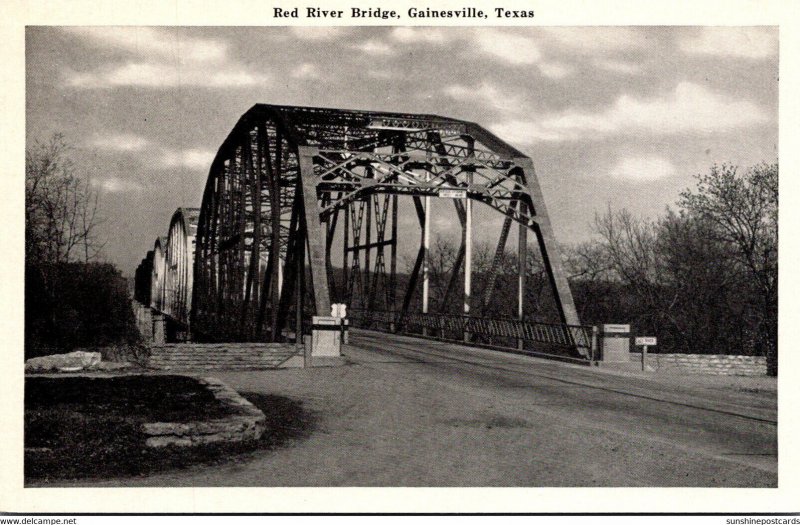
[[[16,490],[796,479],[777,22],[355,5],[26,24]]]

